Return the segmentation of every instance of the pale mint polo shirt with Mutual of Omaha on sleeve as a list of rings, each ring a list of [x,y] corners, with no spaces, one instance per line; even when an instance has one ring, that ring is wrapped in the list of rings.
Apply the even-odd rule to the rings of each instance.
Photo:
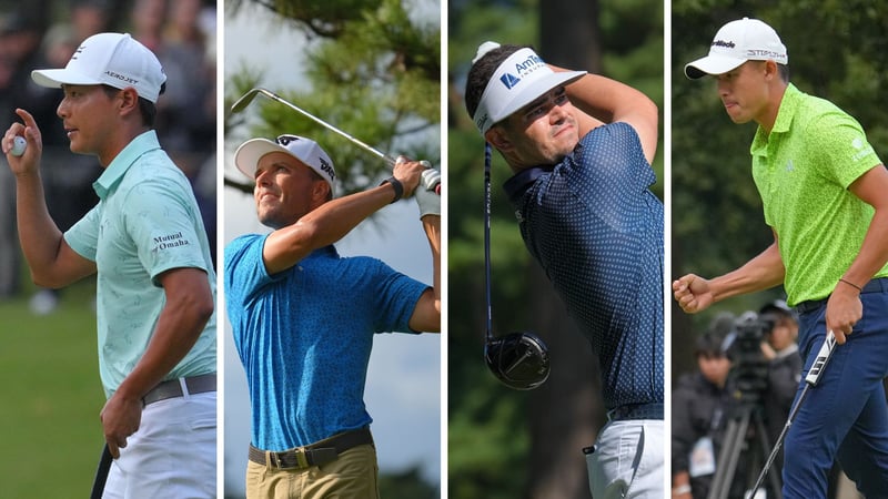
[[[111,396],[142,358],[165,295],[158,276],[200,268],[215,297],[215,272],[198,203],[154,131],[130,142],[93,183],[99,204],[64,233],[95,262],[99,371]],[[164,379],[215,373],[215,312],[198,343]]]

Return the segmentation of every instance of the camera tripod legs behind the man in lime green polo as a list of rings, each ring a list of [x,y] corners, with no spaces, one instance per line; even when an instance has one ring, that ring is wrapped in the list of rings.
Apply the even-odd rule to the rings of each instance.
[[[725,439],[716,461],[718,467],[707,499],[727,499],[729,497],[737,465],[744,451],[747,452],[745,459],[747,476],[743,478],[744,493],[755,483],[756,473],[771,450],[761,410],[760,405],[751,403],[743,403],[735,409],[735,414],[728,420]],[[768,476],[768,482],[761,488],[766,489],[768,499],[783,497],[779,473],[771,472]]]

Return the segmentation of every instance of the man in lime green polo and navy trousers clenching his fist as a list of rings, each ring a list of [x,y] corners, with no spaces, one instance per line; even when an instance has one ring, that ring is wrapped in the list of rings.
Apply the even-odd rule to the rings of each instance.
[[[888,171],[854,118],[789,83],[788,64],[774,29],[744,18],[685,67],[688,78],[715,78],[735,123],[758,123],[753,177],[774,243],[738,269],[688,274],[673,289],[696,313],[783,284],[799,312],[805,371],[831,330],[839,345],[786,436],[783,497],[826,497],[835,459],[864,496],[888,497]]]

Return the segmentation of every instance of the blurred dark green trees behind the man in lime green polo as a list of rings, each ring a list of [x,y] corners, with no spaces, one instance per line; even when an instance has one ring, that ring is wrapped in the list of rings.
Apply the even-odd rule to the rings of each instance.
[[[789,53],[790,82],[833,101],[855,116],[885,161],[888,120],[888,19],[884,0],[672,2],[672,276],[724,274],[773,241],[751,177],[749,145],[756,125],[736,125],[725,113],[713,79],[692,82],[684,65],[705,55],[718,28],[743,17],[767,22]],[[673,302],[672,358],[676,373],[694,367],[696,335],[719,312],[757,310],[780,288],[733,298],[690,316]]]

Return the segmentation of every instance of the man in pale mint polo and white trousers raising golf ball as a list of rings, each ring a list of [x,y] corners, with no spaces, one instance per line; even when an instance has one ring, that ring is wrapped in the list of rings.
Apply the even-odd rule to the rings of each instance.
[[[19,238],[34,282],[62,287],[97,275],[101,424],[115,458],[104,498],[213,498],[215,487],[215,272],[191,186],[158,143],[167,77],[129,34],[84,40],[64,69],[34,82],[61,88],[71,151],[104,169],[99,203],[62,234],[47,212],[41,135],[17,110],[2,139],[16,176]]]

